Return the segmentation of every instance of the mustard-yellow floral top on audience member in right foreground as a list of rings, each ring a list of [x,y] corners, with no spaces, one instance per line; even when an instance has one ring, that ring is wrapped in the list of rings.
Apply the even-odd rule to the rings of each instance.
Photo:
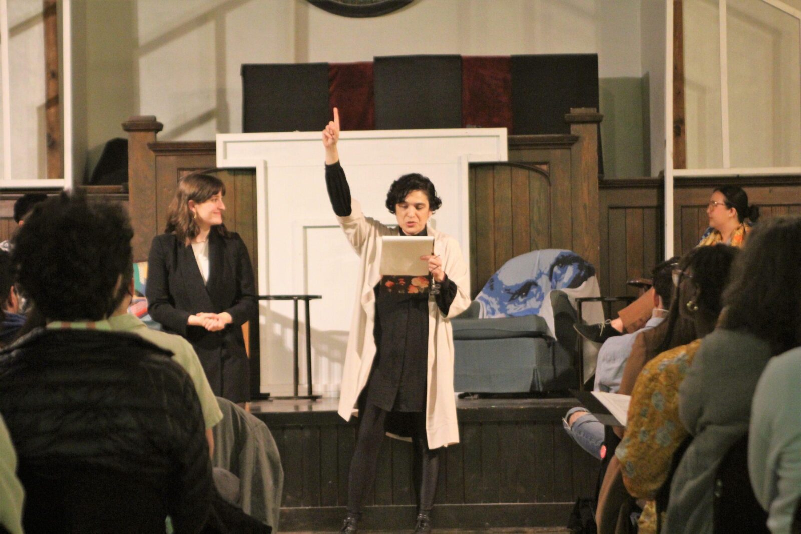
[[[678,387],[701,339],[662,352],[643,367],[634,383],[628,426],[615,451],[631,496],[646,499],[640,531],[656,532],[654,498],[665,483],[673,453],[688,436],[678,417]]]

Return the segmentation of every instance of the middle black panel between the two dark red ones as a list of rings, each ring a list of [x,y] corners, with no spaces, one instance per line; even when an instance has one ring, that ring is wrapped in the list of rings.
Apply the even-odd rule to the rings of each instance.
[[[461,128],[461,56],[375,58],[376,130]]]

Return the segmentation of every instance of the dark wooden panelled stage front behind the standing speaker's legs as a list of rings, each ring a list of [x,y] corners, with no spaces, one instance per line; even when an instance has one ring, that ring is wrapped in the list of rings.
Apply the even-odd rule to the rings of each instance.
[[[575,399],[457,401],[461,443],[446,450],[437,486],[437,528],[564,527],[580,496],[593,496],[598,461],[562,428]],[[282,532],[337,531],[345,515],[356,421],[336,399],[255,402],[284,466]],[[414,524],[411,444],[384,440],[365,530]]]

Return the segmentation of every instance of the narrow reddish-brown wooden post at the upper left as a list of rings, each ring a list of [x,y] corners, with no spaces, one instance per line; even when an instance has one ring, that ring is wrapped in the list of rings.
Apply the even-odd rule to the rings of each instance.
[[[58,94],[58,17],[56,0],[43,0],[45,34],[46,178],[63,178],[61,104]]]

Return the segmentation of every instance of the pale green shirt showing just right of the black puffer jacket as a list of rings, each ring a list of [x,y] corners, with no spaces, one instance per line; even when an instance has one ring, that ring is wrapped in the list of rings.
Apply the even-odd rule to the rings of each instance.
[[[198,399],[200,400],[200,408],[203,409],[203,421],[206,423],[206,428],[211,428],[223,420],[223,412],[219,411],[217,399],[211,391],[211,386],[208,385],[206,373],[203,372],[198,355],[186,339],[183,339],[180,335],[151,330],[145,323],[130,313],[110,317],[108,323],[111,324],[111,330],[113,331],[132,332],[158,347],[171,351],[174,354],[172,359],[187,371],[192,383],[195,384],[195,391],[197,391]]]

